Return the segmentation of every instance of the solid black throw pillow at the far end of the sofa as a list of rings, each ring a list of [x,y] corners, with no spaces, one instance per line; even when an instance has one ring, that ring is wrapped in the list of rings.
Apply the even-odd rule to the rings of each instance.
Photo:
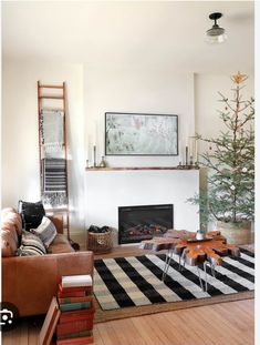
[[[30,229],[37,229],[41,222],[45,210],[41,201],[32,203],[19,200],[18,211],[22,216],[23,229],[30,231]]]

